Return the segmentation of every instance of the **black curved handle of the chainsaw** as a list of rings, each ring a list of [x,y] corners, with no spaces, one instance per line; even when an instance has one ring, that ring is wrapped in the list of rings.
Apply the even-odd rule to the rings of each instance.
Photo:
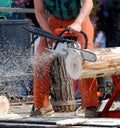
[[[69,31],[70,31],[70,28],[66,28],[66,29],[64,29],[64,30],[62,30],[62,31],[60,32],[59,36],[62,36],[65,32],[69,32]],[[80,33],[84,36],[84,39],[85,39],[85,46],[84,46],[84,49],[87,49],[87,47],[88,47],[88,37],[87,37],[87,35],[86,35],[85,32],[80,31]]]

